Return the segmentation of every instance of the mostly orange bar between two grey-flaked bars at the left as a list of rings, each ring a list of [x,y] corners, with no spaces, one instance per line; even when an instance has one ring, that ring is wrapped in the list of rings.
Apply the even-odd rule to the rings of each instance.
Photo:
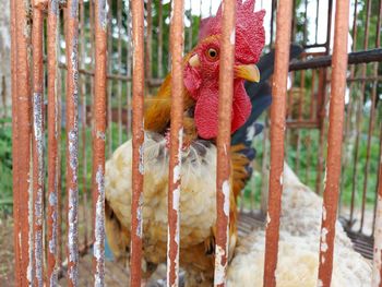
[[[58,93],[58,50],[59,50],[59,2],[48,1],[48,254],[47,285],[58,284],[58,186],[59,183],[59,93]]]

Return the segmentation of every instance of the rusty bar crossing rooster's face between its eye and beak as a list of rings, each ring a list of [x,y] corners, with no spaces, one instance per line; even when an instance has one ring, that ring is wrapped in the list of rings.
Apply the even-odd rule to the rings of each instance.
[[[214,285],[226,286],[229,242],[230,127],[234,95],[236,0],[224,0],[219,62],[218,134],[216,140],[216,248]]]

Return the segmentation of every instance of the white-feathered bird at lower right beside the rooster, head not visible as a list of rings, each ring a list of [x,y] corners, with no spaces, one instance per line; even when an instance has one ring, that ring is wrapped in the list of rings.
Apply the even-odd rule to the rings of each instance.
[[[283,175],[276,284],[322,286],[318,283],[322,198],[305,186],[286,163]],[[228,286],[263,286],[265,228],[265,225],[256,226],[239,242],[228,266]],[[335,228],[331,286],[370,286],[371,262],[355,251],[339,220]]]

